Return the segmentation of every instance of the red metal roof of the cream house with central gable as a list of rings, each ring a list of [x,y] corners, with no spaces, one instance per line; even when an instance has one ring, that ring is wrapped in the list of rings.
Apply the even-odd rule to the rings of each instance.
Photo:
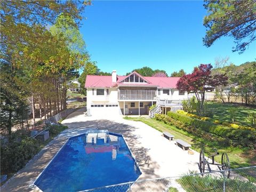
[[[138,74],[137,72],[135,73]],[[159,88],[176,88],[176,84],[180,79],[180,77],[143,77],[140,75],[148,83],[119,83],[128,76],[117,76],[116,83],[113,83],[111,76],[87,75],[85,87],[157,86]]]

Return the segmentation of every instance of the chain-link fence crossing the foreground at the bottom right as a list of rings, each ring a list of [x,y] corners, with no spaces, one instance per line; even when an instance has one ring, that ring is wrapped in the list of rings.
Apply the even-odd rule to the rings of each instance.
[[[198,192],[198,191],[256,191],[256,166],[231,169],[230,177],[225,171],[194,173],[179,177],[157,178],[143,181],[126,182],[117,185],[83,190],[93,192],[123,192],[123,191],[169,191],[169,192]]]

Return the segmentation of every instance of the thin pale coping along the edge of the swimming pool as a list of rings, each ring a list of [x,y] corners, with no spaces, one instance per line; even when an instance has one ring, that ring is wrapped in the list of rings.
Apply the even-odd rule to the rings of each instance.
[[[96,131],[96,130],[95,130],[95,131]],[[97,130],[97,131],[100,131],[100,130]],[[77,138],[77,137],[81,137],[81,135],[86,135],[86,132],[89,132],[89,131],[85,131],[85,133],[78,134],[78,135],[75,135],[75,136],[73,136],[73,137],[67,138],[67,141],[66,141],[65,143],[63,143],[63,145],[62,145],[61,148],[58,150],[58,152],[52,157],[51,161],[46,164],[46,166],[45,166],[45,168],[43,169],[43,171],[36,177],[36,179],[33,181],[33,183],[32,183],[31,185],[29,185],[29,187],[35,187],[35,188],[37,188],[38,190],[43,191],[42,189],[40,189],[40,188],[35,184],[35,182],[36,182],[36,181],[41,177],[41,175],[49,168],[49,165],[51,164],[51,162],[53,161],[53,159],[54,159],[55,157],[57,157],[57,156],[60,154],[62,148],[67,144],[67,142],[68,142],[70,139]],[[114,135],[114,136],[117,136],[117,137],[122,137],[122,138],[124,139],[124,142],[125,142],[127,148],[129,149],[129,151],[130,151],[130,153],[131,153],[131,157],[132,157],[132,159],[134,160],[136,166],[138,167],[139,172],[141,173],[140,175],[142,175],[143,172],[142,172],[142,170],[140,169],[140,167],[139,167],[139,165],[138,165],[138,162],[137,162],[136,159],[134,158],[134,155],[132,154],[132,151],[131,151],[129,145],[127,144],[127,142],[126,142],[126,140],[125,140],[123,134],[113,133],[113,132],[109,132],[109,131],[108,131],[108,133],[111,133],[111,135]],[[140,175],[139,175],[139,177],[140,177]],[[139,179],[139,177],[138,177],[135,181],[137,181],[137,180]],[[130,181],[130,182],[135,182],[135,181]],[[121,184],[121,183],[116,183],[116,184],[114,184],[114,185],[117,185],[117,184]],[[107,186],[109,186],[109,185],[107,185]],[[106,186],[102,186],[102,187],[106,187]],[[102,188],[102,187],[99,187],[99,188]],[[91,189],[94,189],[94,188],[91,188]],[[91,190],[91,189],[85,189],[85,190],[80,190],[80,191],[86,191],[86,190]],[[77,192],[79,192],[79,191],[77,191]]]

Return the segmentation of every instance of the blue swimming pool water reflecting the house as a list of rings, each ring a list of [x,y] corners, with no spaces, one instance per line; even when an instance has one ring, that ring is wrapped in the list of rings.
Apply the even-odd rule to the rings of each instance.
[[[134,169],[134,158],[122,135],[106,135],[70,138],[35,185],[43,191],[79,191],[135,181],[141,172]]]

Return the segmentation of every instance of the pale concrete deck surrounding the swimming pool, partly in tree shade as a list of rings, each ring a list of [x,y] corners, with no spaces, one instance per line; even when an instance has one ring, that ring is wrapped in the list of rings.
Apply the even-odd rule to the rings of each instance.
[[[58,153],[69,137],[82,134],[93,127],[123,134],[137,161],[143,157],[146,151],[150,166],[140,166],[142,174],[138,180],[174,177],[186,174],[189,171],[199,172],[197,164],[199,154],[197,152],[194,155],[189,155],[188,151],[183,151],[180,147],[177,147],[174,141],[163,138],[161,132],[142,122],[128,121],[123,119],[122,116],[88,117],[84,115],[84,108],[82,108],[70,114],[62,121],[62,124],[67,125],[69,129],[60,133],[57,138],[44,147],[24,169],[15,175],[4,188],[1,188],[1,191],[41,191],[33,183],[54,155]],[[156,187],[156,190],[152,188],[150,191],[159,191],[161,183],[154,187]],[[145,190],[136,187],[136,191]]]

